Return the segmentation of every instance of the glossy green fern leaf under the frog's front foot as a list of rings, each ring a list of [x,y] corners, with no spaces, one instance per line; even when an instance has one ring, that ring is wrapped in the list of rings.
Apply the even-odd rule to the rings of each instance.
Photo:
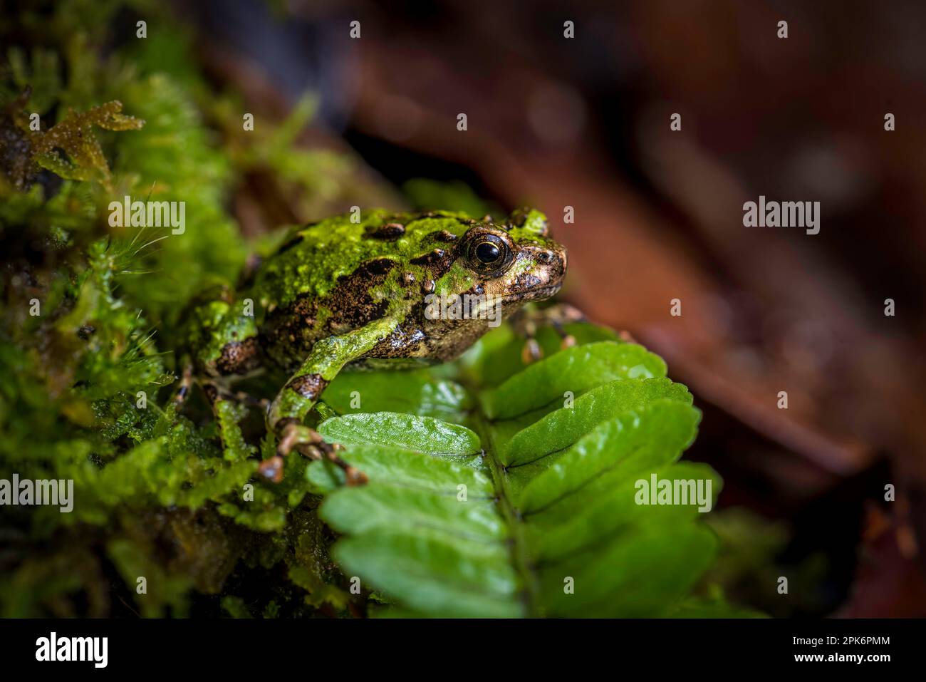
[[[324,399],[339,416],[319,432],[344,445],[344,459],[369,484],[344,486],[326,461],[309,464],[307,477],[325,496],[320,517],[342,534],[334,559],[387,597],[384,614],[660,616],[702,608],[692,593],[717,539],[700,523],[699,505],[713,505],[720,477],[679,461],[700,412],[656,355],[577,327],[589,343],[521,366],[498,385],[484,373],[513,341],[504,328],[457,363],[454,378],[465,386],[446,373],[392,373],[415,387],[404,398],[407,413],[351,410],[347,396],[368,408],[388,404],[395,392],[381,374],[344,374],[332,384]],[[464,416],[450,423],[435,413]],[[638,503],[639,482],[653,476],[700,481],[710,499],[695,501],[692,487],[685,504]]]

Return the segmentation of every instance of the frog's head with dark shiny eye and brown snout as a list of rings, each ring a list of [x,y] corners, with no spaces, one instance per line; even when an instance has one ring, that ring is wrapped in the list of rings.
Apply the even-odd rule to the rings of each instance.
[[[457,262],[469,269],[487,297],[510,312],[559,291],[566,248],[548,236],[544,214],[515,211],[502,223],[477,222],[459,243]]]

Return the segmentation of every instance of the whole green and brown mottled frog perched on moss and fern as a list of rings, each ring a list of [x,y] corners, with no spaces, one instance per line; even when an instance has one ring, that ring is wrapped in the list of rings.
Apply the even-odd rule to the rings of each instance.
[[[216,409],[220,400],[250,399],[231,392],[235,380],[268,370],[288,376],[272,400],[258,401],[277,445],[257,471],[276,482],[297,451],[340,466],[347,485],[365,483],[338,446],[305,423],[335,376],[455,360],[499,316],[557,294],[567,266],[566,248],[532,208],[502,221],[355,210],[295,226],[281,244],[237,287],[222,286],[186,316],[187,360],[174,398],[182,403],[197,383]],[[435,299],[477,305],[449,314],[454,307]]]

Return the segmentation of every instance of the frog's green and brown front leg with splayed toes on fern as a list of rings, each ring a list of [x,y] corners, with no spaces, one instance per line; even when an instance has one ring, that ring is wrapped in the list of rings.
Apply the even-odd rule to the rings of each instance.
[[[282,457],[295,449],[312,459],[324,457],[344,469],[348,485],[366,482],[364,474],[342,461],[335,453],[335,448],[325,443],[303,421],[315,407],[321,392],[344,365],[363,357],[370,348],[392,334],[396,326],[393,319],[384,318],[369,322],[347,334],[330,336],[316,342],[307,359],[270,404],[267,425],[277,436],[277,456],[261,462],[261,473],[269,477],[279,475]]]

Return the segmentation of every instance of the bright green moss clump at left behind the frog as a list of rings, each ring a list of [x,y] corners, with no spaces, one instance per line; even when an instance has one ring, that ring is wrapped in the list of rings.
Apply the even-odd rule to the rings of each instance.
[[[139,9],[151,40],[125,19]],[[274,444],[253,414],[223,410],[222,443],[202,401],[180,415],[169,394],[185,303],[252,250],[236,188],[272,176],[305,220],[359,198],[354,162],[294,150],[308,101],[271,144],[241,133],[187,35],[149,2],[27,8],[0,29],[0,477],[74,481],[73,512],[5,507],[6,617],[351,613],[304,469],[258,480]],[[184,234],[110,226],[123,196],[186,202]]]

